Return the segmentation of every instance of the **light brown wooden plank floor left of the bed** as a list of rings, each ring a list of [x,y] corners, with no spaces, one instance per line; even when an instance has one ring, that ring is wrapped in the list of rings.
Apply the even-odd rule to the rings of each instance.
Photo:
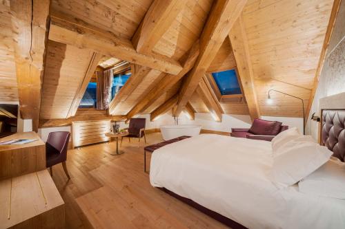
[[[147,144],[161,142],[160,133]],[[126,153],[110,155],[115,142],[68,151],[68,181],[61,164],[53,180],[66,202],[66,228],[227,228],[150,186],[144,173],[144,142],[124,140]],[[148,153],[149,154],[149,153]],[[149,162],[148,156],[148,162]]]

